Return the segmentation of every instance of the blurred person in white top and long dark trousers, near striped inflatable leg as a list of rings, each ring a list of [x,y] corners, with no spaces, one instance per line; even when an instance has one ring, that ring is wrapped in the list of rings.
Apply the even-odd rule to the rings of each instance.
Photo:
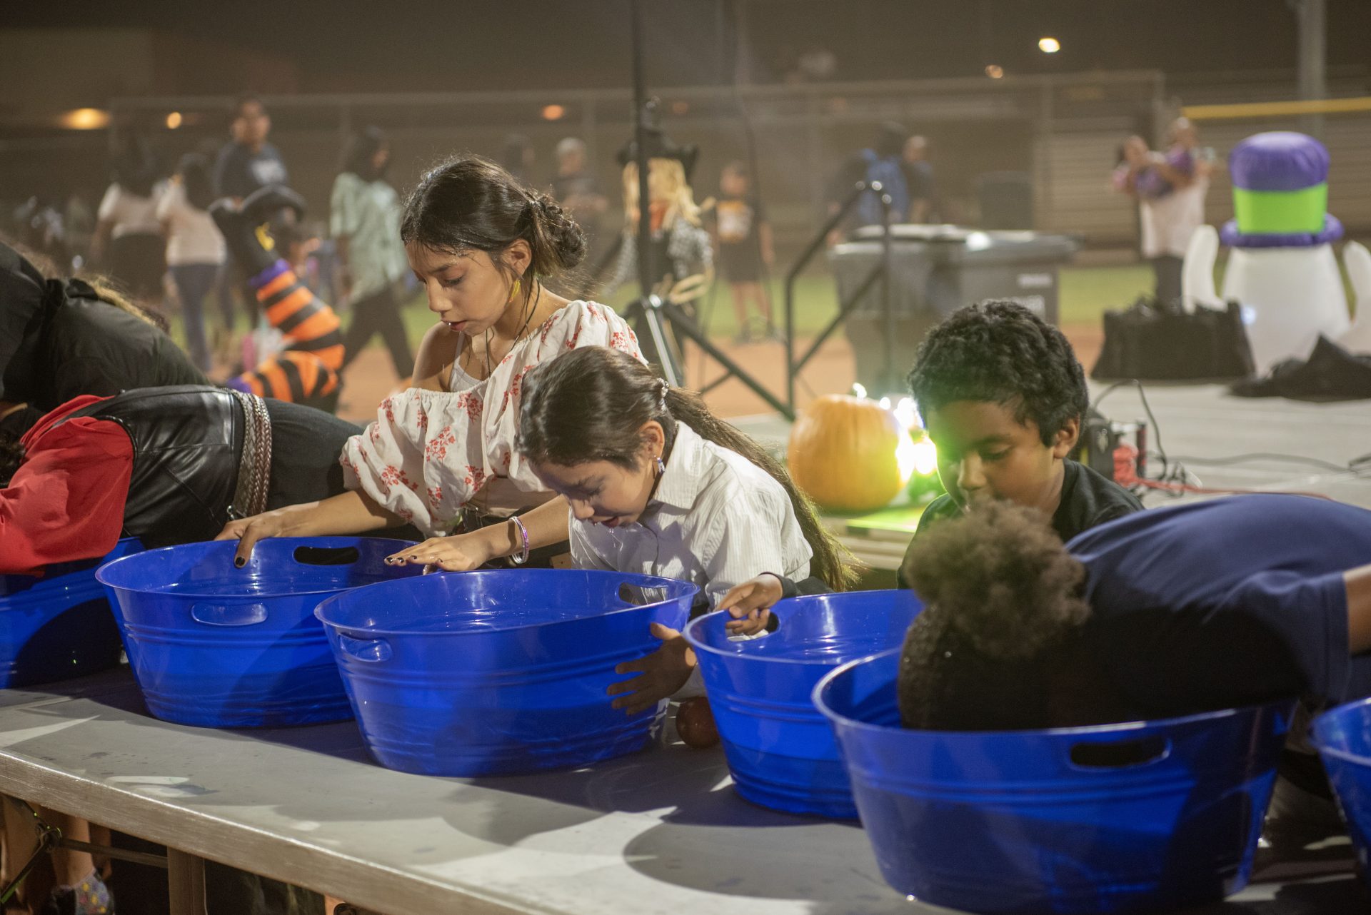
[[[167,237],[166,259],[181,316],[186,349],[200,371],[210,370],[204,337],[204,299],[223,268],[223,236],[208,208],[214,203],[210,163],[199,153],[181,158],[177,174],[158,200],[158,221]]]

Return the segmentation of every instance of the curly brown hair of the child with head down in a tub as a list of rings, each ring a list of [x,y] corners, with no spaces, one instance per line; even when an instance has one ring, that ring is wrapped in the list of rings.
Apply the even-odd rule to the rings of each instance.
[[[923,599],[899,663],[906,727],[1016,730],[1135,718],[1083,651],[1084,567],[1036,510],[975,505],[917,540]]]

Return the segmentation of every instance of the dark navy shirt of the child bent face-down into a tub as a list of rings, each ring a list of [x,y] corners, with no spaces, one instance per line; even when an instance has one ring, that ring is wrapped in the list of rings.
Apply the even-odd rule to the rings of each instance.
[[[1342,573],[1371,563],[1371,511],[1305,496],[1153,508],[1075,537],[1087,645],[1132,701],[1186,714],[1371,694],[1348,656]]]

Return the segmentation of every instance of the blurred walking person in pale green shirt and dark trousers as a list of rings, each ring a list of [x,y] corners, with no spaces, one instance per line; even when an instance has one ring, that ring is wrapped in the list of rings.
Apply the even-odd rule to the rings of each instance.
[[[381,334],[395,374],[409,384],[414,355],[400,318],[396,286],[409,271],[400,242],[400,199],[385,181],[391,145],[378,127],[348,142],[333,181],[329,229],[337,258],[339,292],[352,310],[343,336],[343,368]]]

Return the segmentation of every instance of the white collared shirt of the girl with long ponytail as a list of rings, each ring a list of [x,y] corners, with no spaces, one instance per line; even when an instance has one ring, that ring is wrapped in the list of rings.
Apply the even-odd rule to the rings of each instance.
[[[572,518],[570,545],[580,568],[694,582],[710,607],[761,573],[808,578],[813,557],[786,489],[686,423],[676,425],[666,473],[639,521],[605,527]]]

